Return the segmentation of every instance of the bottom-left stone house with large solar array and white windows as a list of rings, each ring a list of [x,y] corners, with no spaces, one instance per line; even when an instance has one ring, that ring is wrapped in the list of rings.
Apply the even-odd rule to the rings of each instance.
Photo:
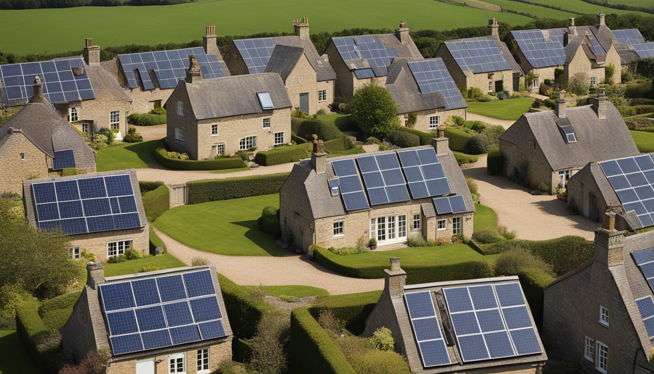
[[[78,362],[110,354],[107,374],[213,373],[232,359],[232,329],[215,265],[88,278],[61,327],[61,347]]]

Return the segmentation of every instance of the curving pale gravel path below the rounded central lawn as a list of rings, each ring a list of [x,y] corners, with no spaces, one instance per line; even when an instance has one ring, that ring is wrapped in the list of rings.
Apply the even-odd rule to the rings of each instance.
[[[236,284],[249,286],[301,285],[324,288],[331,295],[381,290],[384,280],[358,279],[330,271],[304,256],[292,254],[284,257],[228,256],[196,250],[177,242],[158,229],[154,231],[165,243],[168,253],[186,264],[193,257],[204,257],[216,265],[216,270]]]

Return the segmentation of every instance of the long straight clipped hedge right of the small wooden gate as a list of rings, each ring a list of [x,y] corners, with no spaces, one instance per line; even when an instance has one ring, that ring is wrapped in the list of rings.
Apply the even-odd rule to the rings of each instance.
[[[278,193],[290,173],[188,182],[188,204]]]

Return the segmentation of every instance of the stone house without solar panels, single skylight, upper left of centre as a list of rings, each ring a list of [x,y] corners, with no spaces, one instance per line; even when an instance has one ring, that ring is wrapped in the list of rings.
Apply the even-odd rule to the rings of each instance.
[[[165,107],[169,149],[192,160],[291,141],[291,103],[277,73],[203,79],[192,60]]]

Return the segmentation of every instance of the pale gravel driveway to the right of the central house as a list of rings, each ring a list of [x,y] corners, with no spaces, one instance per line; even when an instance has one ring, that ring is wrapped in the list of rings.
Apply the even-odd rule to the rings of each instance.
[[[515,230],[520,239],[543,240],[577,235],[593,240],[598,223],[570,215],[566,203],[550,195],[531,195],[529,189],[506,177],[489,176],[486,156],[464,168],[463,174],[477,181],[481,204],[492,208],[498,224]]]

